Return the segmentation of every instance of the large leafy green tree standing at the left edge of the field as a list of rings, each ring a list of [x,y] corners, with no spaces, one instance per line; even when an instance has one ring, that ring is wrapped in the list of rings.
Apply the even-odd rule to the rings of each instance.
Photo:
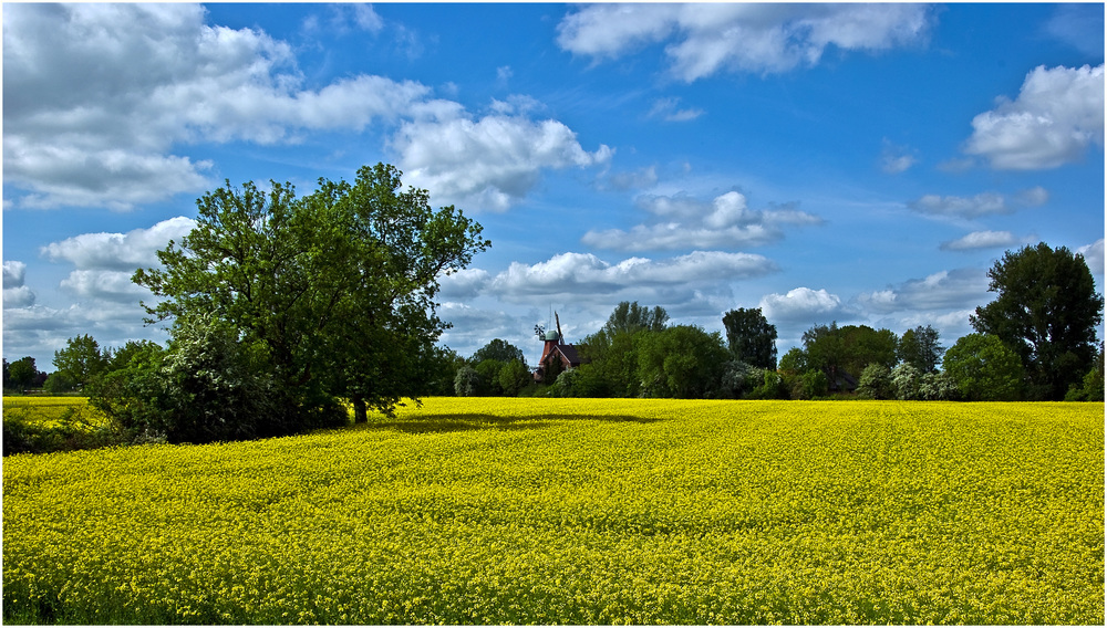
[[[227,186],[197,201],[196,228],[158,252],[161,269],[134,281],[164,297],[149,321],[210,312],[256,345],[301,419],[349,398],[364,420],[424,388],[443,274],[465,268],[490,243],[454,207],[432,210],[425,190],[404,190],[401,172],[377,164],[353,184],[320,179],[298,198]],[[255,349],[251,348],[251,352]],[[251,353],[252,355],[252,353]]]

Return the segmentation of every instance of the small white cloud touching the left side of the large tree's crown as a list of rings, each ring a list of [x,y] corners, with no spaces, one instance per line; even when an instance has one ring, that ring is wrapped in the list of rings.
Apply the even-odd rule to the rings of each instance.
[[[179,243],[195,226],[193,219],[178,216],[127,233],[82,233],[46,244],[42,254],[50,261],[72,262],[79,270],[134,271],[157,265],[156,252],[169,240]]]

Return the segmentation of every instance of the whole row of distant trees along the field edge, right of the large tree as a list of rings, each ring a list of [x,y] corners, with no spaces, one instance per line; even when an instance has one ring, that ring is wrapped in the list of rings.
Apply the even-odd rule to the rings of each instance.
[[[603,328],[577,344],[579,367],[528,384],[523,352],[497,338],[461,362],[455,393],[1101,401],[1104,349],[1095,341],[1104,302],[1083,255],[1041,243],[1008,251],[989,276],[997,297],[970,317],[976,332],[948,349],[929,324],[898,335],[834,322],[810,327],[803,346],[778,363],[776,327],[761,308],[727,312],[724,337],[670,326],[663,308],[623,302]]]

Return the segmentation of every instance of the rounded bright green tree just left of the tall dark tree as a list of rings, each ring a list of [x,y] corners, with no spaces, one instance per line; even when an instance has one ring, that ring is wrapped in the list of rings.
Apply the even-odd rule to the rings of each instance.
[[[970,401],[1014,401],[1022,394],[1023,365],[999,336],[962,336],[942,358],[945,373]]]

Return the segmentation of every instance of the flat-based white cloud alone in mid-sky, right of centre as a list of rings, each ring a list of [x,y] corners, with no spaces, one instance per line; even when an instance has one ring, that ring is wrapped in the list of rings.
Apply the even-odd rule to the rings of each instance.
[[[720,195],[711,202],[687,196],[643,196],[638,205],[653,220],[629,231],[588,231],[581,242],[617,251],[735,249],[779,240],[784,237],[782,224],[823,222],[817,216],[788,206],[751,209],[745,195],[736,191]]]

